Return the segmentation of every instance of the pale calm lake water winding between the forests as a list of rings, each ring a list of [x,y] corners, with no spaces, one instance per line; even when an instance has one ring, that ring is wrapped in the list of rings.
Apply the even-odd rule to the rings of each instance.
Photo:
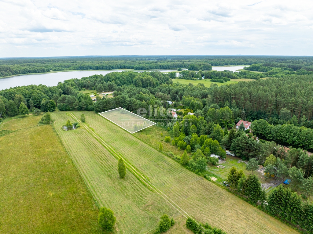
[[[236,71],[242,69],[244,66],[234,66],[234,67],[212,67],[213,70],[224,71],[225,69],[230,71]],[[187,70],[187,69],[183,69]],[[110,71],[75,71],[75,72],[55,72],[55,73],[45,73],[45,74],[32,74],[23,76],[13,76],[8,78],[0,78],[0,90],[7,89],[10,87],[23,86],[23,85],[39,85],[44,84],[47,86],[56,86],[58,82],[64,82],[64,80],[74,79],[81,77],[89,77],[92,75],[105,75],[110,72],[122,72],[123,70],[110,70]],[[173,72],[177,69],[167,69],[159,70],[160,72]],[[177,72],[177,77],[178,77]]]

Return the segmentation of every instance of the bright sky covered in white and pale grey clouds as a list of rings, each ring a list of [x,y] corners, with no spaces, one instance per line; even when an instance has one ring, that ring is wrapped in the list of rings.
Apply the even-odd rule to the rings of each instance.
[[[312,0],[0,0],[0,57],[312,56],[312,12]]]

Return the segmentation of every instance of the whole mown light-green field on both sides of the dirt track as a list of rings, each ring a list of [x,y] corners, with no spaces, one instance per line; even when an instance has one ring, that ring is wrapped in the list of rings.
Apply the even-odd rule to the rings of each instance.
[[[74,114],[75,120],[77,120],[82,112],[71,113]],[[93,134],[100,136],[99,141],[88,137],[88,131],[84,129],[71,132],[61,131],[60,127],[69,117],[64,112],[53,113],[54,119],[57,120],[55,127],[93,195],[100,202],[101,200],[105,201],[105,204],[116,213],[119,232],[126,230],[127,233],[130,226],[141,227],[140,221],[145,228],[136,229],[138,232],[152,231],[155,226],[152,223],[150,225],[147,223],[150,220],[156,222],[155,217],[159,217],[160,213],[167,211],[169,215],[177,216],[177,211],[169,205],[171,203],[175,204],[175,207],[179,207],[180,212],[185,216],[190,215],[199,222],[208,222],[213,226],[222,228],[227,233],[297,233],[273,217],[223,190],[223,188],[188,171],[179,163],[156,151],[100,115],[93,112],[84,113],[86,116],[85,129],[92,131],[89,134],[90,136]],[[155,192],[143,187],[142,183],[135,178],[127,184],[124,181],[121,182],[115,169],[116,158],[108,155],[105,152],[105,147],[101,147],[99,142],[105,142],[118,155],[123,157],[129,165],[136,168],[136,172],[148,178],[153,187],[156,188]],[[97,160],[97,162],[89,162],[90,160]],[[110,161],[113,161],[113,165],[100,173],[100,165],[111,164]],[[110,176],[107,175],[110,179],[106,178],[106,183],[101,183],[101,180],[105,180],[106,173],[110,174]],[[96,174],[98,174],[97,177]],[[127,175],[129,180],[133,177],[129,171],[127,171]],[[95,177],[96,179],[94,179]],[[112,189],[111,183],[113,182],[115,193],[109,192]],[[105,191],[110,194],[103,191],[102,184],[105,184]],[[129,191],[126,193],[128,196],[121,194],[120,186]],[[162,194],[170,198],[169,203],[163,200],[164,196]],[[150,209],[142,209],[138,206],[138,202],[129,204],[134,198],[140,199],[139,196],[150,197]],[[119,201],[118,204],[114,202],[116,200]],[[144,203],[141,204],[146,207]],[[139,210],[136,210],[136,208],[139,208]],[[131,217],[122,215],[127,209],[129,209],[127,214],[130,214]],[[133,219],[133,214],[136,214],[136,212],[138,212],[138,217]],[[142,218],[147,216],[151,219]],[[141,217],[140,221],[138,220],[139,217]]]

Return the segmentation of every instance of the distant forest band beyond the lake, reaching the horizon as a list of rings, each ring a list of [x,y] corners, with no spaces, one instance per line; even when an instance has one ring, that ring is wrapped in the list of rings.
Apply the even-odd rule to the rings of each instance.
[[[177,69],[211,70],[211,66],[252,65],[275,66],[293,71],[310,71],[313,57],[290,56],[85,56],[85,57],[46,57],[46,58],[1,58],[0,77],[18,74],[42,73],[63,70],[114,70],[114,69]],[[287,65],[286,65],[287,64]],[[191,66],[190,66],[191,65]],[[189,67],[190,66],[190,67]],[[287,66],[287,67],[285,67]],[[255,66],[254,66],[255,67]],[[285,67],[285,68],[280,68]],[[260,68],[251,68],[260,69]],[[269,71],[270,73],[275,73]],[[268,69],[261,69],[262,72]],[[302,71],[303,70],[303,71]],[[253,70],[257,71],[257,70]],[[279,70],[281,72],[281,70]],[[277,73],[280,74],[280,73]],[[275,73],[275,75],[277,75]]]

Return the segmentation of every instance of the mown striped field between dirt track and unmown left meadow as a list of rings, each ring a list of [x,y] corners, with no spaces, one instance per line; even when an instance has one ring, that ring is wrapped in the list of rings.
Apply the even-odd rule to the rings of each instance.
[[[90,115],[105,121],[94,112],[75,112],[79,117],[81,113],[85,114],[88,124],[97,120],[91,119]],[[51,116],[55,119],[55,130],[95,200],[100,206],[110,207],[115,213],[115,227],[118,233],[150,232],[156,228],[159,217],[164,213],[179,216],[172,206],[144,186],[131,172],[127,171],[125,179],[120,179],[117,159],[82,125],[76,130],[65,132],[61,130],[62,125],[67,119],[71,122],[74,120],[65,112],[52,112]],[[114,136],[108,135],[105,139],[108,137]]]

